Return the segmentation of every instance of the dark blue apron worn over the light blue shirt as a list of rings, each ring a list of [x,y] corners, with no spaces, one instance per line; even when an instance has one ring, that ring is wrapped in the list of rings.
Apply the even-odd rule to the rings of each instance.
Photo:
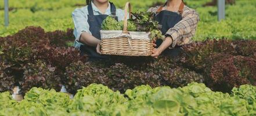
[[[116,6],[110,2],[111,8],[111,16],[113,16],[117,20],[116,16]],[[89,30],[91,31],[93,37],[100,39],[100,30],[102,29],[102,22],[104,19],[107,18],[107,14],[100,14],[94,15],[91,3],[88,5],[88,23],[89,23]],[[100,55],[96,52],[96,47],[89,46],[89,45],[81,45],[80,46],[81,55],[88,55],[89,60],[97,60],[97,59],[104,59],[106,55]]]

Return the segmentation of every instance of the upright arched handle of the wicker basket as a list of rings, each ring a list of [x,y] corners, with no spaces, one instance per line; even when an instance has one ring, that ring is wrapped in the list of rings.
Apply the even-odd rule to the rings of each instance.
[[[128,25],[127,13],[128,13],[128,10],[129,10],[129,17],[131,18],[131,16],[132,16],[132,14],[131,14],[132,8],[131,8],[131,3],[130,2],[126,3],[125,9],[124,9],[124,30],[122,31],[123,33],[128,33],[128,31],[127,31],[127,25]]]

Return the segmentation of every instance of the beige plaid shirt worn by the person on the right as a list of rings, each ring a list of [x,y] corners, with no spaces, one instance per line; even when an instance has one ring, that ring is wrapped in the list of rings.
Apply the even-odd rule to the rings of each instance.
[[[160,6],[150,8],[148,12],[156,13]],[[166,6],[163,10],[166,9]],[[178,13],[178,12],[177,12]],[[197,23],[199,22],[199,13],[196,10],[184,6],[182,20],[170,28],[165,35],[171,35],[173,42],[170,48],[176,45],[181,46],[193,42],[192,37],[196,33]]]

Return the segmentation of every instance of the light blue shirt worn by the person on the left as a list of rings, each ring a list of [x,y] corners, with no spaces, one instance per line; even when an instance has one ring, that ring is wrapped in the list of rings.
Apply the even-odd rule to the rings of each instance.
[[[102,14],[100,10],[93,4],[93,2],[92,2],[92,10],[94,15]],[[78,42],[82,32],[88,32],[89,34],[91,34],[91,32],[89,31],[88,14],[89,14],[88,5],[82,8],[77,8],[72,13],[74,26],[75,26],[74,28],[74,35],[75,35],[74,47],[75,48],[80,48],[80,46],[83,45],[81,42]],[[110,3],[109,3],[109,7],[107,8],[104,14],[107,14],[107,15],[111,14]],[[117,9],[116,16],[118,17],[118,21],[124,20],[124,10]]]

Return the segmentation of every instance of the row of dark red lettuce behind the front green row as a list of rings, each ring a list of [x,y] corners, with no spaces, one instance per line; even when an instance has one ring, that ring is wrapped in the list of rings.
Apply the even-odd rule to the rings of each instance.
[[[20,86],[24,95],[33,87],[60,91],[64,85],[76,93],[94,83],[121,93],[139,85],[178,88],[199,82],[222,92],[256,85],[256,41],[207,40],[183,46],[179,57],[110,56],[93,62],[68,47],[70,41],[72,30],[45,32],[40,27],[0,38],[0,92]]]

